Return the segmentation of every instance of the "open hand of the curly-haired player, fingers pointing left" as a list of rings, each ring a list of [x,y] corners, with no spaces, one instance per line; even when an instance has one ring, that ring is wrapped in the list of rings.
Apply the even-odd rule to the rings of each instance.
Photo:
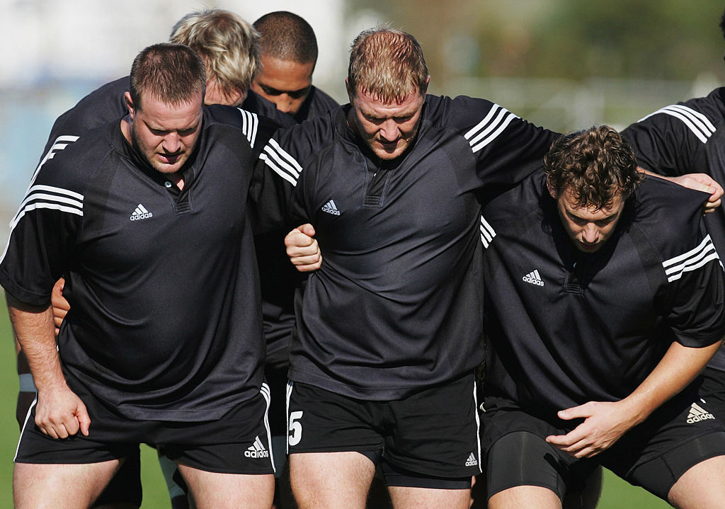
[[[590,401],[558,413],[569,421],[584,418],[584,422],[566,435],[550,435],[546,441],[576,458],[591,458],[607,450],[632,426],[630,415],[619,402]]]

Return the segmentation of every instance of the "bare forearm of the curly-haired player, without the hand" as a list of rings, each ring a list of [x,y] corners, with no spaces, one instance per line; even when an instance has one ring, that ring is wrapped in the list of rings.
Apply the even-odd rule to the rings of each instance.
[[[629,407],[634,423],[644,421],[656,408],[689,385],[705,368],[720,344],[721,341],[708,347],[691,348],[673,342],[652,373],[634,392],[621,400]]]

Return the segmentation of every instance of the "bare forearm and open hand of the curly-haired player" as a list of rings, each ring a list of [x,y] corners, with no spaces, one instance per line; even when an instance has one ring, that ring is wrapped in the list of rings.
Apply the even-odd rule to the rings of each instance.
[[[559,418],[584,418],[584,422],[566,435],[547,436],[547,442],[577,458],[589,458],[608,449],[695,379],[720,344],[691,348],[673,342],[652,373],[624,400],[590,401],[561,410]]]

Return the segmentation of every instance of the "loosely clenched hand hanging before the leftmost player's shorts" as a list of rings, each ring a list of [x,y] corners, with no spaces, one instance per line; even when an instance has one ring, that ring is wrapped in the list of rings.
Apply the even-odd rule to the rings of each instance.
[[[86,405],[68,386],[38,391],[36,426],[54,439],[65,439],[80,432],[88,436],[91,417]]]

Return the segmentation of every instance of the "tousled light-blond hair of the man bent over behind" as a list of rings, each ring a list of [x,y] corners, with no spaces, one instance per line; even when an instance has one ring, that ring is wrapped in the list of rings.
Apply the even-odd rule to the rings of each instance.
[[[260,68],[259,38],[257,30],[233,12],[208,9],[182,17],[169,40],[194,49],[207,66],[208,78],[231,96],[235,88],[247,94]]]

